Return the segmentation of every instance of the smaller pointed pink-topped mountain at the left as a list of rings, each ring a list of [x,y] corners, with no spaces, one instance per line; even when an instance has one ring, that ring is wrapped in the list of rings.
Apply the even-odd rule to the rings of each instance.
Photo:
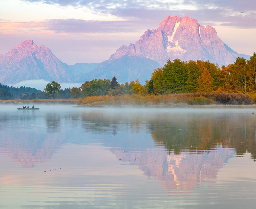
[[[26,40],[5,55],[0,55],[0,83],[44,79],[73,82],[76,74],[47,47]]]

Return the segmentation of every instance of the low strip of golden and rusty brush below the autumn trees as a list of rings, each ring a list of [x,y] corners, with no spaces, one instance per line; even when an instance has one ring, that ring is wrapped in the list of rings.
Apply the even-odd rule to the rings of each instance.
[[[77,105],[85,106],[187,106],[187,105],[249,105],[255,104],[249,94],[243,93],[180,93],[166,95],[124,94],[118,96],[102,95],[79,98]]]

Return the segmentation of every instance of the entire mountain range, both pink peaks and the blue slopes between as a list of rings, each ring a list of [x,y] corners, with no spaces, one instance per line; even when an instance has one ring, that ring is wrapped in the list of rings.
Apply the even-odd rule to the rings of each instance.
[[[44,79],[57,82],[81,82],[92,79],[112,79],[125,83],[150,80],[154,69],[163,67],[168,59],[182,61],[209,60],[228,65],[238,54],[228,47],[211,26],[202,26],[189,17],[166,17],[157,29],[147,30],[138,41],[121,46],[101,63],[76,63],[68,66],[47,47],[26,40],[5,55],[0,55],[0,83]]]

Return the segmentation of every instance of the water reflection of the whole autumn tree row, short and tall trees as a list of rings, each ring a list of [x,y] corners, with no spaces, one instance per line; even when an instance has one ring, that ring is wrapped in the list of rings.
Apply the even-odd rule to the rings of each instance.
[[[247,114],[217,113],[82,113],[82,127],[91,133],[113,133],[129,129],[150,131],[168,153],[185,150],[197,153],[216,149],[220,144],[236,149],[238,155],[256,156],[256,118]]]

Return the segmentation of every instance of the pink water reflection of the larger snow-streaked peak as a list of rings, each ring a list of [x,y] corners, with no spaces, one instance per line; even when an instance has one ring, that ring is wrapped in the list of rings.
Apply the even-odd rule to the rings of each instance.
[[[234,156],[234,151],[219,148],[204,153],[169,153],[159,147],[140,152],[115,150],[117,158],[130,161],[146,176],[157,177],[167,191],[195,190],[204,179],[214,180],[218,170]]]

